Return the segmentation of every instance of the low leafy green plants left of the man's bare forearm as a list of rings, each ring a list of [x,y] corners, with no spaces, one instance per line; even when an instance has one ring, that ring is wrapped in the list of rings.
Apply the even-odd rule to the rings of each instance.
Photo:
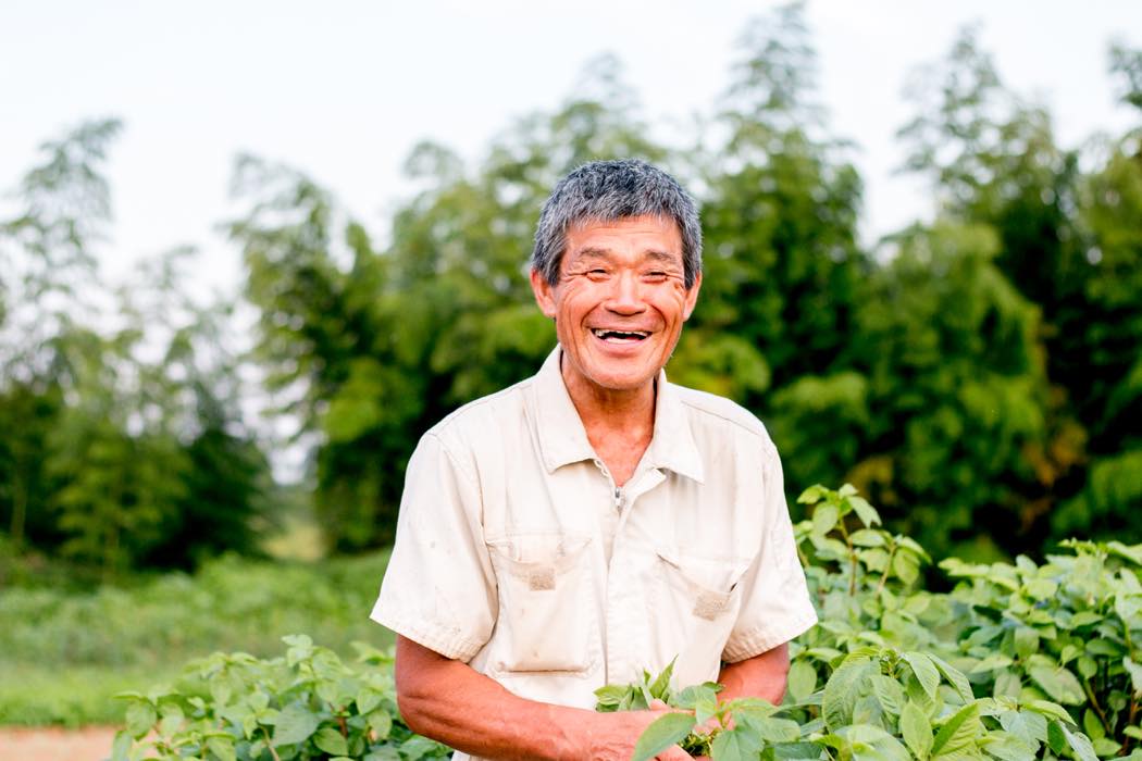
[[[450,753],[401,720],[392,655],[359,643],[351,665],[304,634],[283,640],[284,656],[217,653],[188,664],[177,689],[119,695],[127,726],[112,761],[416,761]]]

